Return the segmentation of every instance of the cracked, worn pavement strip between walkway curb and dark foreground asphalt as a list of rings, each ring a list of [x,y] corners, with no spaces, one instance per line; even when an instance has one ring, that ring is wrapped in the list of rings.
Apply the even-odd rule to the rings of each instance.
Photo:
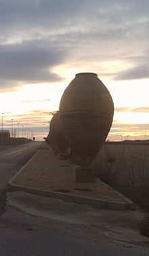
[[[13,215],[9,215],[10,209],[13,209]],[[9,221],[8,215],[11,217]],[[30,230],[73,234],[76,238],[119,244],[149,253],[149,238],[142,236],[139,230],[144,216],[140,210],[110,211],[14,191],[7,193],[2,219],[9,225],[18,223]]]

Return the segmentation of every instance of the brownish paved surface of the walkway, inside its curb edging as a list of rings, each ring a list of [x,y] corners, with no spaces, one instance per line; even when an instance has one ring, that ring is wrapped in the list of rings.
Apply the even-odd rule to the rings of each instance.
[[[13,181],[16,185],[49,191],[62,191],[71,195],[86,196],[100,200],[126,202],[104,183],[76,183],[77,166],[70,160],[59,160],[51,149],[41,149],[28,162]]]

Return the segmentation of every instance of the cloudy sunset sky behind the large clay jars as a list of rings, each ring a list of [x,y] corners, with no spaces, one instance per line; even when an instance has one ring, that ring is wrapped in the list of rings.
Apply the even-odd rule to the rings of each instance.
[[[149,139],[148,0],[0,0],[4,129],[19,123],[43,139],[64,89],[87,71],[114,100],[109,139]]]

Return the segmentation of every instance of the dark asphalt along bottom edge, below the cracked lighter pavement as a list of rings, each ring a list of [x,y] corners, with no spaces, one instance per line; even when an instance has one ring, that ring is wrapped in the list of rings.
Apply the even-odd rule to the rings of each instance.
[[[147,256],[133,249],[71,236],[1,228],[1,256]]]

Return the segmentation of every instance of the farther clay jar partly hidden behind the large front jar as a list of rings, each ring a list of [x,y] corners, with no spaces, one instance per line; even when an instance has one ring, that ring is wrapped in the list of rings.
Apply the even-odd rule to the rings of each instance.
[[[56,150],[60,153],[66,153],[68,144],[66,143],[66,139],[62,133],[59,111],[57,111],[51,119],[49,134],[51,136],[51,140],[54,142]]]

